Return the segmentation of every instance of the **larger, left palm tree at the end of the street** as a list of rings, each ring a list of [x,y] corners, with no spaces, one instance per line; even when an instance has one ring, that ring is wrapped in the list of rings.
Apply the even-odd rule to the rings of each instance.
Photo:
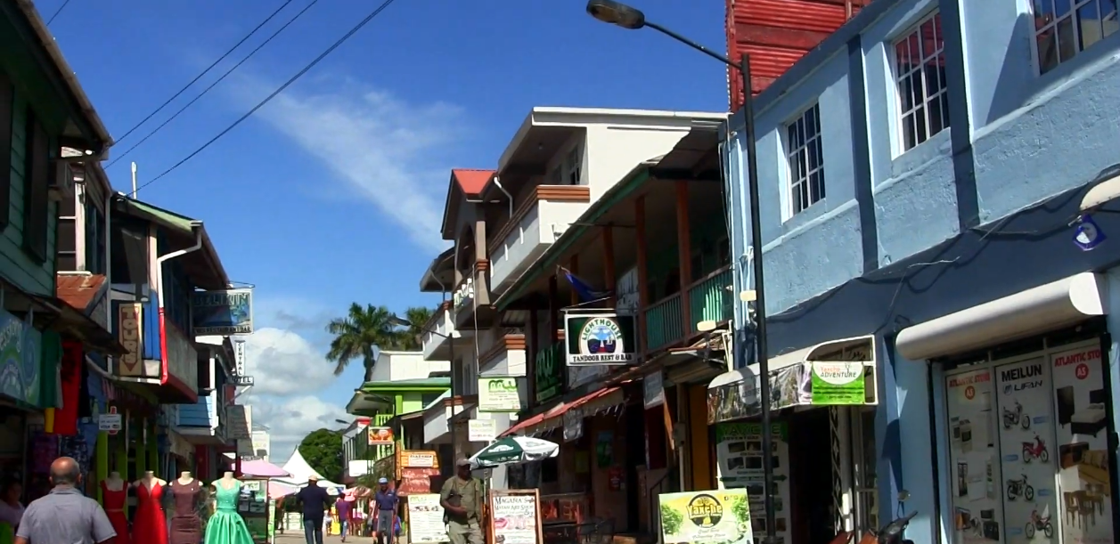
[[[384,306],[354,302],[344,318],[332,319],[327,332],[334,335],[327,360],[334,362],[335,376],[353,359],[362,359],[368,372],[377,360],[379,349],[402,348],[403,331],[393,322],[393,312]]]

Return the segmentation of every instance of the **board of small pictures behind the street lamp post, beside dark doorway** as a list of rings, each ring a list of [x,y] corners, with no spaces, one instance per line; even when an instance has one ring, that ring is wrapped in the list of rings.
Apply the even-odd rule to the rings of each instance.
[[[759,423],[720,423],[716,425],[716,460],[717,481],[720,489],[745,489],[750,497],[752,527],[758,534],[754,538],[760,541],[765,536],[766,510],[763,500],[763,435]],[[790,444],[788,429],[784,422],[771,425],[771,437],[774,444],[774,520],[775,531],[784,542],[792,542],[790,528]],[[666,541],[668,542],[668,541]]]

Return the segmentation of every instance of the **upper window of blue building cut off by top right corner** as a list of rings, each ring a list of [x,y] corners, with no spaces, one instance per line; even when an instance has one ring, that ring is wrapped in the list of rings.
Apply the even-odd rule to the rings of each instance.
[[[1117,0],[1034,0],[1034,10],[1042,74],[1120,28]]]

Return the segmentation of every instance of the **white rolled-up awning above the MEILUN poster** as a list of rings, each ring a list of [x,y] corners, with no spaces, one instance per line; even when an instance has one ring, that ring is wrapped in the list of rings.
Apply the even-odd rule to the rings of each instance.
[[[1108,283],[1082,272],[907,327],[895,349],[909,360],[961,354],[1068,327],[1105,313]]]

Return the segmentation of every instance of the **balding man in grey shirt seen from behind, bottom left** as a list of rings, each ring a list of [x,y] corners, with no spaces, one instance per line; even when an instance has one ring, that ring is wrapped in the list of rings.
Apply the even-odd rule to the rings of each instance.
[[[32,500],[16,529],[16,544],[113,544],[116,531],[96,500],[78,489],[77,461],[59,457],[50,463],[50,493]]]

